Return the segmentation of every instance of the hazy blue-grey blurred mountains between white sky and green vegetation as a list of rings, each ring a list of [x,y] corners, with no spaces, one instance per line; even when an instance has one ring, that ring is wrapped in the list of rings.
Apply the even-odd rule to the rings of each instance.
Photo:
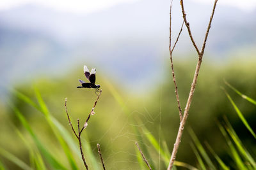
[[[143,0],[86,15],[35,4],[0,11],[1,86],[36,74],[63,74],[72,66],[83,68],[89,63],[124,80],[124,85],[136,82],[136,88],[145,87],[145,83],[157,81],[168,54],[169,3]],[[195,41],[201,44],[212,6],[188,1],[185,8]],[[206,53],[220,59],[238,48],[254,46],[255,14],[217,6]],[[173,39],[181,23],[179,2],[175,1]],[[194,51],[186,29],[184,33],[177,46],[180,54]]]

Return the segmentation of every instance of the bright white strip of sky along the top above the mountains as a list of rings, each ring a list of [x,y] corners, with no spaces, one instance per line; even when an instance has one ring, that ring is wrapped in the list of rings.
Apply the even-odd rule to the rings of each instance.
[[[110,8],[120,3],[134,3],[141,0],[1,0],[0,10],[8,10],[16,6],[24,4],[38,4],[52,8],[57,11],[65,11],[70,13],[92,13],[106,8]],[[163,1],[163,0],[161,0]],[[164,0],[166,1],[166,0]],[[179,1],[179,0],[174,0]],[[197,3],[212,3],[213,0],[193,0]],[[252,11],[256,8],[255,0],[220,0],[220,5],[236,6],[244,11]]]

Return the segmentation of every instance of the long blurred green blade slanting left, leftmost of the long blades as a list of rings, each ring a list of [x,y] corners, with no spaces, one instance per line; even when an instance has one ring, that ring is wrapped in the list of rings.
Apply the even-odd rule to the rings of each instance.
[[[40,150],[40,152],[42,152],[45,159],[47,159],[49,164],[51,164],[51,166],[54,167],[55,169],[66,169],[65,166],[63,166],[56,158],[54,158],[53,155],[50,152],[48,152],[48,150],[44,147],[44,145],[42,145],[40,140],[36,137],[35,132],[33,132],[31,127],[29,126],[28,122],[26,121],[26,118],[24,118],[24,116],[20,113],[20,111],[12,105],[11,105],[11,107],[12,107],[15,115],[19,118],[20,122],[25,127],[25,129],[29,132],[31,138],[35,142],[35,144],[38,147],[38,149]]]

